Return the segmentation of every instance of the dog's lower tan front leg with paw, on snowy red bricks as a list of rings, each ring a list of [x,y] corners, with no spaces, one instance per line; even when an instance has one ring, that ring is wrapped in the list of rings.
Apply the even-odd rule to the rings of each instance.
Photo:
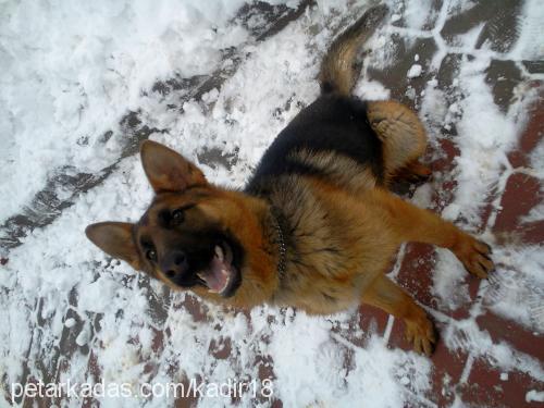
[[[362,294],[361,300],[403,319],[406,324],[406,338],[413,344],[415,350],[428,356],[432,354],[436,342],[433,323],[423,309],[387,276],[380,274]]]

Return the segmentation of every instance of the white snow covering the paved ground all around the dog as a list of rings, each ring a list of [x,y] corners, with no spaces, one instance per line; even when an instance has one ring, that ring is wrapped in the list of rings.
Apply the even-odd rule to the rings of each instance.
[[[131,396],[104,396],[101,406],[162,407],[166,397],[136,395],[141,384],[269,376],[274,398],[287,407],[433,406],[431,360],[387,347],[391,330],[362,330],[356,308],[329,318],[268,307],[223,310],[111,261],[83,233],[97,221],[134,221],[149,203],[134,139],[164,143],[199,162],[210,181],[243,186],[274,136],[318,96],[314,78],[331,38],[368,5],[321,0],[262,36],[274,16],[300,7],[271,3],[248,12],[240,11],[243,0],[0,1],[0,406],[11,399],[10,384],[28,378],[126,383]],[[542,140],[521,170],[507,157],[542,95],[544,74],[522,61],[544,60],[544,4],[520,3],[511,44],[500,49],[493,42],[496,25],[446,29],[452,16],[478,2],[387,3],[392,17],[367,47],[372,52],[356,94],[401,96],[412,104],[429,129],[429,161],[443,158],[443,140],[453,143],[458,154],[450,172],[435,174],[412,200],[494,243],[498,264],[470,316],[449,321],[444,313],[469,302],[470,294],[466,272],[438,250],[430,292],[441,311],[430,312],[443,323],[448,349],[485,357],[497,370],[516,369],[542,385],[542,361],[492,341],[475,319],[492,310],[542,343],[542,245],[500,239],[493,227],[500,212],[496,191],[512,174],[544,180]],[[421,40],[435,48],[419,50]],[[411,53],[405,71],[392,70],[400,54]],[[450,54],[459,59],[444,86],[441,66]],[[487,81],[492,61],[509,61],[520,73],[504,106]],[[390,75],[400,75],[404,85],[387,82]],[[199,88],[210,76],[215,83]],[[94,174],[100,181],[86,185],[85,175]],[[434,200],[448,180],[457,183],[452,196]],[[526,221],[543,218],[540,205]],[[543,390],[528,398],[542,398]],[[249,392],[239,401],[268,406]],[[199,406],[231,403],[206,397]]]

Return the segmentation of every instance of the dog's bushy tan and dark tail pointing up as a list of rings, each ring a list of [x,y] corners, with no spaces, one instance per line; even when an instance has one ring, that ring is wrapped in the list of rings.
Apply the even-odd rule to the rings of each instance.
[[[373,34],[387,11],[385,4],[373,7],[335,38],[321,63],[321,92],[350,94],[357,79],[354,73],[357,49]]]

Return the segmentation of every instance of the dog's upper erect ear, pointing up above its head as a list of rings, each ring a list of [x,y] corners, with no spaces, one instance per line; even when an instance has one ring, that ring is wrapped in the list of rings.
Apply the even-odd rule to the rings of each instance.
[[[154,193],[183,191],[207,184],[205,175],[195,164],[163,145],[146,140],[141,144],[140,154]]]

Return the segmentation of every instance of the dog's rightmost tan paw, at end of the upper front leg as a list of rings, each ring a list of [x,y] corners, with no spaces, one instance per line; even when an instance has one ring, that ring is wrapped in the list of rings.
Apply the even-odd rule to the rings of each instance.
[[[453,248],[453,252],[467,271],[480,279],[486,279],[495,269],[491,259],[491,247],[468,234],[463,234],[462,239]]]

